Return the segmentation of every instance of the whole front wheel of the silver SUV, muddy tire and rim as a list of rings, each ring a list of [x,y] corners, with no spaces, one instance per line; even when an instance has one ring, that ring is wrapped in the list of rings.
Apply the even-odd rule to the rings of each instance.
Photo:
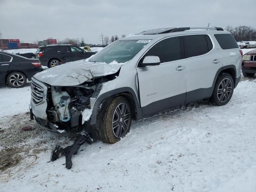
[[[125,97],[118,96],[110,102],[103,114],[99,138],[102,142],[114,144],[130,131],[132,122],[130,104]]]

